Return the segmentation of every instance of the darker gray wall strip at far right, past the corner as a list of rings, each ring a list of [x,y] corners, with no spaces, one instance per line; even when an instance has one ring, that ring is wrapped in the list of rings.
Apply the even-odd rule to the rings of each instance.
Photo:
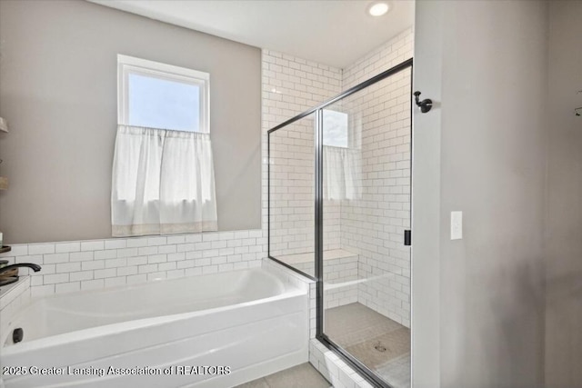
[[[546,384],[582,387],[582,2],[549,5]]]

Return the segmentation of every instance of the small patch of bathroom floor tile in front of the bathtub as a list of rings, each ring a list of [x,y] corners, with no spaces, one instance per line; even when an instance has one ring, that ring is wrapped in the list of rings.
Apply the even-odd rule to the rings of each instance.
[[[329,388],[327,380],[310,363],[302,363],[285,371],[269,374],[236,388]]]

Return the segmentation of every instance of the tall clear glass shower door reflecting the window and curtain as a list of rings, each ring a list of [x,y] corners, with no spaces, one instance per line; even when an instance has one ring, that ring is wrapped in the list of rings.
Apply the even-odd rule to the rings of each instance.
[[[410,386],[411,67],[322,114],[323,334]]]

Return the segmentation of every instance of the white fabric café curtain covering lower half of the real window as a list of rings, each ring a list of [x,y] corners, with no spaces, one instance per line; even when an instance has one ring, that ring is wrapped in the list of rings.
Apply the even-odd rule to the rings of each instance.
[[[217,230],[210,135],[118,125],[114,236]]]

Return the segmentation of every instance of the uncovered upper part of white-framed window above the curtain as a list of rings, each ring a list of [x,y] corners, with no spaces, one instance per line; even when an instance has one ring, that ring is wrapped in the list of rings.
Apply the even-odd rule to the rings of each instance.
[[[119,124],[208,133],[210,75],[126,55],[117,66]]]

